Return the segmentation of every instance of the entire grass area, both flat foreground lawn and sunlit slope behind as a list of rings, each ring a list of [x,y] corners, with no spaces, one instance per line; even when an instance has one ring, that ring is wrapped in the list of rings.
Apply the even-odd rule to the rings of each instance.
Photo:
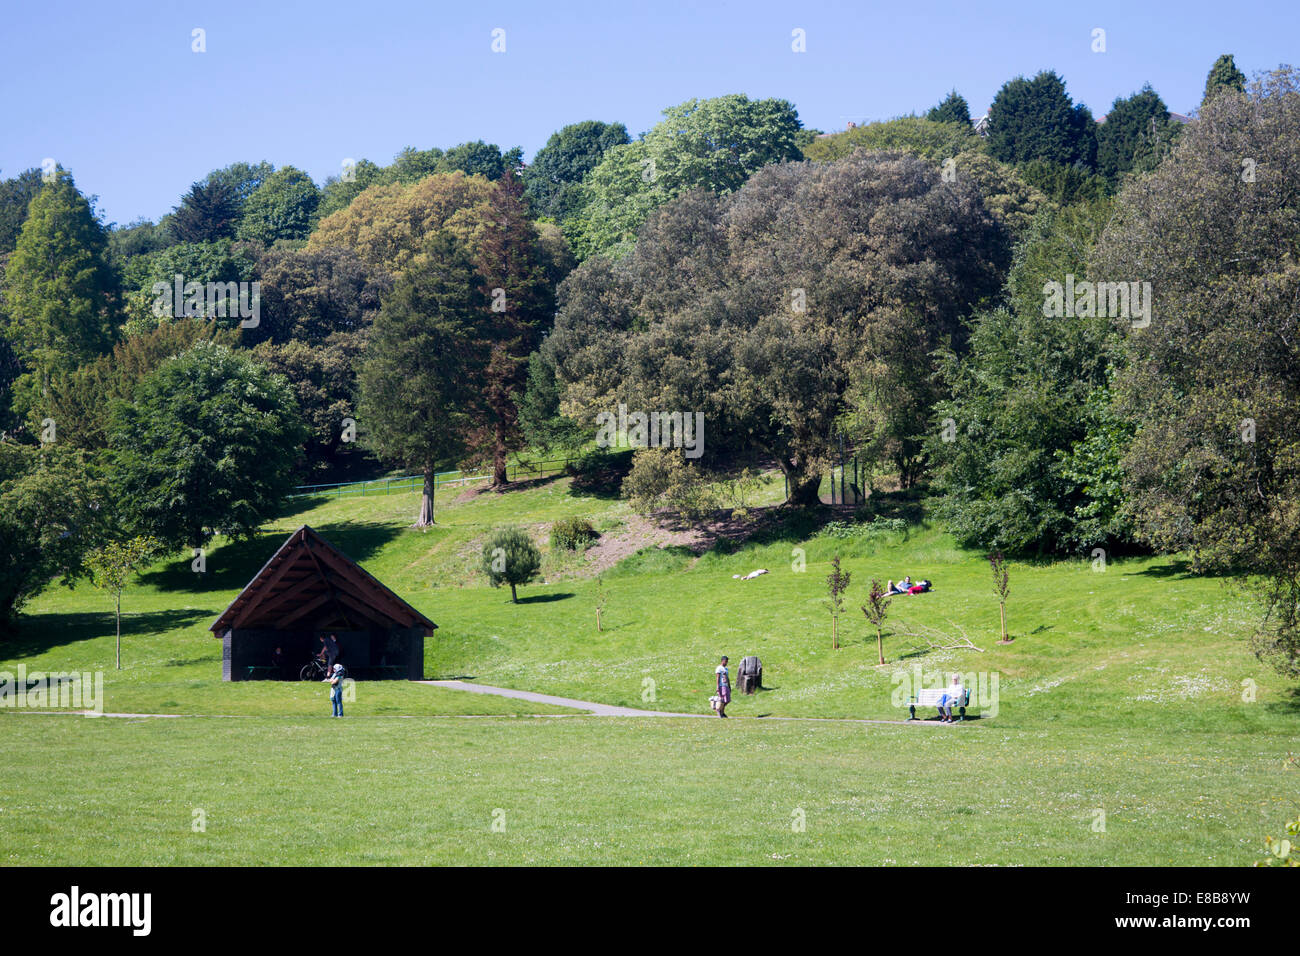
[[[416,503],[295,502],[257,541],[209,549],[202,583],[188,557],[161,562],[124,597],[122,671],[110,598],[46,591],[0,645],[0,671],[101,669],[107,710],[243,719],[0,711],[0,741],[20,756],[0,791],[5,861],[910,864],[944,847],[971,862],[1232,865],[1300,804],[1287,760],[1300,700],[1249,654],[1252,596],[1175,559],[1013,564],[1015,640],[998,645],[983,555],[923,524],[776,528],[698,558],[651,549],[599,581],[586,558],[547,554],[549,583],[512,605],[474,572],[484,535],[517,523],[543,540],[578,514],[618,536],[627,505],[560,479],[445,496],[438,527],[416,532]],[[207,631],[303,523],[438,623],[430,678],[706,713],[718,656],[734,667],[758,654],[771,689],[737,697],[734,717],[897,721],[894,675],[916,667],[996,678],[996,714],[957,727],[589,718],[363,682],[348,715],[365,719],[326,723],[320,685],[224,684]],[[853,574],[840,650],[824,607],[833,554]],[[770,574],[732,578],[757,567]],[[879,667],[858,607],[872,576],[902,574],[936,591],[894,600]],[[906,633],[920,627],[962,630],[980,650],[926,648]],[[519,717],[546,713],[571,715]],[[195,808],[205,834],[191,832]],[[1100,810],[1105,832],[1092,829]]]

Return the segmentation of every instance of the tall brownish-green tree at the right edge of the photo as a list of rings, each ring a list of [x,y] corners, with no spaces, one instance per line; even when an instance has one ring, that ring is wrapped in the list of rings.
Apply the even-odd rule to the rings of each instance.
[[[1126,338],[1124,458],[1141,537],[1199,568],[1258,575],[1260,650],[1300,674],[1300,75],[1223,91],[1130,181],[1096,271],[1152,284]]]

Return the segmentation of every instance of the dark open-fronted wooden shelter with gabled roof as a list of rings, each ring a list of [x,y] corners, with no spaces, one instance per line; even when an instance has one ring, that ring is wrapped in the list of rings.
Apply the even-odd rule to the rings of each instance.
[[[434,628],[304,524],[208,630],[221,639],[222,680],[296,680],[330,633],[348,676],[420,680],[424,639]]]

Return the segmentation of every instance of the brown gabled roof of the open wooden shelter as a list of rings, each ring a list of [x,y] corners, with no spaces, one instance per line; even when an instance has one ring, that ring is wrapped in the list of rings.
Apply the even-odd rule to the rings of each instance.
[[[221,636],[229,628],[317,627],[422,627],[428,635],[437,624],[304,524],[208,630]]]

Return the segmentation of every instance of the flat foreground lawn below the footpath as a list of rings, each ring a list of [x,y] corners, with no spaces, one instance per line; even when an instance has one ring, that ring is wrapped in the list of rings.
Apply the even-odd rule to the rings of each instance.
[[[322,721],[8,717],[0,860],[1243,865],[1295,806],[1238,734]]]

